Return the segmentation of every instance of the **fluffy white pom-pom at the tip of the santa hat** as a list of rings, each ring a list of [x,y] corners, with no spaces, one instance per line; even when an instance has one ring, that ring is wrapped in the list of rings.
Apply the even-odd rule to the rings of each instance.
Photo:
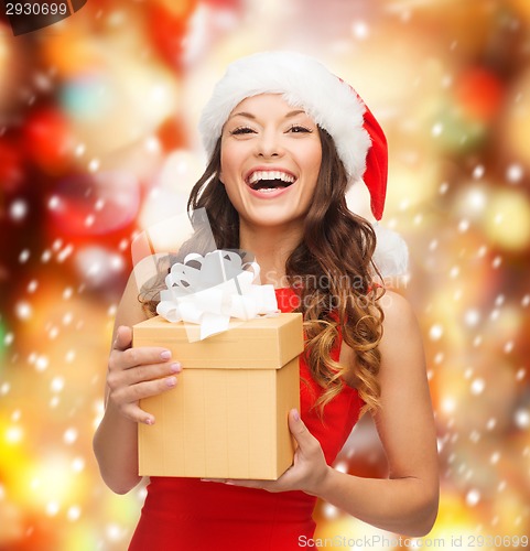
[[[385,281],[397,281],[409,276],[409,248],[404,239],[379,224],[374,225],[377,237],[374,263]]]

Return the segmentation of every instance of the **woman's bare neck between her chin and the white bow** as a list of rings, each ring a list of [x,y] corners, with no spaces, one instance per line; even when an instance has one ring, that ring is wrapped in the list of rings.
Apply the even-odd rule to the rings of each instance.
[[[289,231],[284,227],[250,227],[240,220],[240,248],[256,256],[260,266],[262,284],[286,287],[285,262],[301,240],[301,231]]]

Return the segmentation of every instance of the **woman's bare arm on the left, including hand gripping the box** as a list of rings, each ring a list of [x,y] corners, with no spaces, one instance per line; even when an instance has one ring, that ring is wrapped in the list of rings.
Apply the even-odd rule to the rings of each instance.
[[[145,315],[131,277],[116,316],[106,409],[94,436],[94,453],[101,477],[117,494],[126,494],[141,479],[138,474],[138,423],[152,424],[154,418],[140,409],[139,400],[173,388],[176,385],[174,376],[181,370],[164,348],[131,348],[131,326],[143,320]]]

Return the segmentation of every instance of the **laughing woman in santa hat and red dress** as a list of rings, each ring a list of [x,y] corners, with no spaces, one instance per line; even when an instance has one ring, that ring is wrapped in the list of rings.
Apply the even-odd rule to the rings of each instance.
[[[218,248],[252,251],[280,307],[306,322],[301,411],[289,415],[298,450],[273,482],[153,477],[130,549],[300,549],[311,544],[317,497],[381,529],[425,534],[439,478],[420,332],[408,303],[377,284],[374,228],[345,202],[363,176],[382,215],[379,125],[320,63],[275,52],[234,63],[199,128],[210,161],[188,207],[206,208]],[[171,391],[185,369],[162,348],[131,348],[130,326],[145,318],[138,294],[131,279],[94,442],[105,482],[120,494],[140,480],[137,423],[155,421],[139,400]],[[376,421],[387,479],[331,466],[361,410]]]

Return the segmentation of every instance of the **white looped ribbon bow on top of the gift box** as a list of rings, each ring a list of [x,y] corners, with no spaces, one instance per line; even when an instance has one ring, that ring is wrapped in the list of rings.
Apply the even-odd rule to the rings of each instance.
[[[198,324],[201,341],[228,329],[230,317],[278,315],[274,288],[256,284],[259,272],[257,262],[244,263],[232,251],[187,255],[171,267],[156,312],[172,323]],[[197,339],[194,334],[188,333],[191,341]]]

